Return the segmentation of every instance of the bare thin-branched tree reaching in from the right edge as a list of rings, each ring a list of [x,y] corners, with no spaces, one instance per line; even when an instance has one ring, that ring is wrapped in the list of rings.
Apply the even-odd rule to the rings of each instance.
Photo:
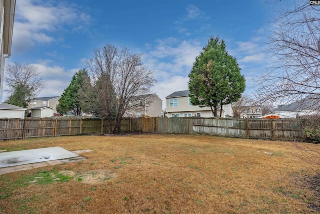
[[[258,79],[257,97],[288,103],[320,95],[320,7],[307,1],[280,4],[267,50],[273,63]],[[287,5],[285,5],[287,3]]]

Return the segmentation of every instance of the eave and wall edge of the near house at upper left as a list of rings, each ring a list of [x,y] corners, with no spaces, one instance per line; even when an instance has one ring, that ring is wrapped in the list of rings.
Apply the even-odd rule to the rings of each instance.
[[[15,0],[0,0],[0,102],[2,102],[5,58],[11,56]]]

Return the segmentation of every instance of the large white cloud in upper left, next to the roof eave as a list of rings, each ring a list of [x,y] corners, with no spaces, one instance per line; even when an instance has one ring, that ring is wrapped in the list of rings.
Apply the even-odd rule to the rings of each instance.
[[[58,32],[63,26],[69,26],[72,30],[81,24],[84,28],[90,20],[90,16],[72,4],[52,5],[46,1],[17,1],[12,52],[20,54],[32,48],[36,43],[46,44],[55,40],[60,41],[60,39],[55,39],[53,32]]]

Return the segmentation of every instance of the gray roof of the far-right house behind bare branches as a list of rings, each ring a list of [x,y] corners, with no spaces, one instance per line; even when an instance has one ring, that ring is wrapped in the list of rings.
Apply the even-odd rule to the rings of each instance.
[[[279,105],[273,111],[302,111],[320,109],[320,98],[308,96],[287,105]]]

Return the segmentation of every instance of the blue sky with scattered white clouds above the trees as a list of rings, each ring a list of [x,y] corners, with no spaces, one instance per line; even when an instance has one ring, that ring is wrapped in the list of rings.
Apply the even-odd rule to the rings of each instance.
[[[45,83],[38,97],[60,96],[92,49],[126,47],[143,54],[157,80],[152,92],[165,107],[166,96],[188,89],[195,57],[210,36],[219,36],[237,59],[245,92],[252,93],[254,78],[267,65],[264,43],[272,13],[264,0],[16,0],[6,63],[37,65]]]

